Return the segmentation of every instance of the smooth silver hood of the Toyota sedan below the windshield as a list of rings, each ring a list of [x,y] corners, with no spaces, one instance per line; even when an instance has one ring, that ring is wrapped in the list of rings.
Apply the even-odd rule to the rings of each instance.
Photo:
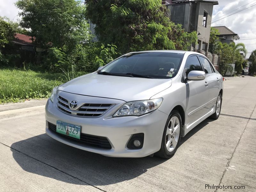
[[[148,79],[90,73],[60,85],[58,90],[80,95],[133,101],[148,100],[171,85],[171,79]]]

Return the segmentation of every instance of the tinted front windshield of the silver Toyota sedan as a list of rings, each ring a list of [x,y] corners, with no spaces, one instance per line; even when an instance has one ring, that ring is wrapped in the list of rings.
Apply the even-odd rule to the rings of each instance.
[[[103,75],[145,78],[172,78],[176,76],[184,54],[171,52],[143,52],[126,54],[109,63],[98,73]]]

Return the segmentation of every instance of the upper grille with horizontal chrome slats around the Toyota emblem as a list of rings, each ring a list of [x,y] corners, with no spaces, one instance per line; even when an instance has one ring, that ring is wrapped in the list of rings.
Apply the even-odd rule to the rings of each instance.
[[[99,117],[102,116],[109,108],[114,106],[114,104],[102,104],[102,103],[84,103],[77,110],[71,110],[68,106],[68,100],[58,96],[57,97],[57,107],[61,111],[81,117]]]

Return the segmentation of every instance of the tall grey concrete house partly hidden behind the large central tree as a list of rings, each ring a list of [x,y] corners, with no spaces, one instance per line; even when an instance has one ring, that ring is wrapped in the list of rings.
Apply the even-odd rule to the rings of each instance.
[[[197,31],[198,44],[193,44],[190,50],[208,51],[213,6],[216,0],[162,0],[169,9],[169,17],[175,24],[181,24],[187,32]]]

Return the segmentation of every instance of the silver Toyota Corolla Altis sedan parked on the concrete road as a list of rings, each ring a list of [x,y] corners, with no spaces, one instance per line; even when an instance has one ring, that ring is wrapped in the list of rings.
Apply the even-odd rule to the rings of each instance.
[[[220,116],[223,77],[202,54],[125,54],[54,87],[46,133],[82,150],[112,157],[170,158],[180,138]]]

